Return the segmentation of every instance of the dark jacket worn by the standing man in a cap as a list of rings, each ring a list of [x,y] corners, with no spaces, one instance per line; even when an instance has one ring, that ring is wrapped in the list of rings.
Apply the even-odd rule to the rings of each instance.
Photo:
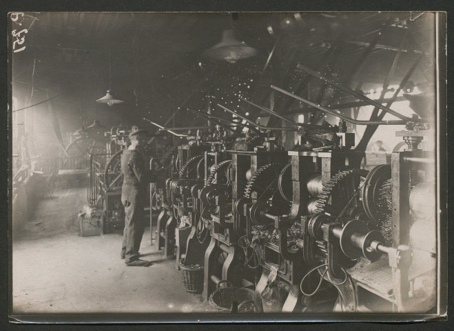
[[[121,156],[121,171],[123,171],[123,188],[121,202],[127,205],[143,203],[147,194],[147,184],[156,181],[154,174],[145,168],[143,157],[136,150],[125,149]]]

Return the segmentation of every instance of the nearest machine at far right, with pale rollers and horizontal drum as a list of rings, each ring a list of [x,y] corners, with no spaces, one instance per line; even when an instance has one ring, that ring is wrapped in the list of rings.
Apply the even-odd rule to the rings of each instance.
[[[305,240],[326,246],[319,257],[313,250],[307,259],[326,258],[322,276],[342,298],[336,310],[427,312],[434,307],[435,171],[433,154],[415,143],[427,133],[398,132],[412,142],[408,150],[393,152],[391,165],[367,175],[360,186],[364,214],[347,216],[320,206],[302,219]]]

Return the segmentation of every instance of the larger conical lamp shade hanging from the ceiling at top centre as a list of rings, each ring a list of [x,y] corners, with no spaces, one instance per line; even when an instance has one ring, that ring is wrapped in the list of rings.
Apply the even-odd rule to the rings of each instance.
[[[224,30],[220,43],[205,50],[202,54],[209,59],[235,63],[241,59],[254,57],[257,54],[257,50],[235,39],[234,30]]]

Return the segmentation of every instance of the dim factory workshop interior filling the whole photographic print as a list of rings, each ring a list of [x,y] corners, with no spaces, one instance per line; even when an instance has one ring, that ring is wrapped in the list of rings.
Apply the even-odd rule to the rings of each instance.
[[[440,312],[439,23],[11,14],[12,314]]]

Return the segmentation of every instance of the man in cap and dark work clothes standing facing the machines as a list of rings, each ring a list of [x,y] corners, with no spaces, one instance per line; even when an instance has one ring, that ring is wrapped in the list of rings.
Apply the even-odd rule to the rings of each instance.
[[[138,258],[143,231],[145,230],[145,197],[147,184],[158,179],[158,172],[147,170],[140,151],[147,143],[146,130],[133,130],[129,134],[131,145],[123,151],[121,156],[121,172],[123,172],[123,186],[121,188],[121,202],[125,207],[125,229],[123,230],[123,245],[121,259],[125,259],[128,266],[149,266],[149,261]]]

